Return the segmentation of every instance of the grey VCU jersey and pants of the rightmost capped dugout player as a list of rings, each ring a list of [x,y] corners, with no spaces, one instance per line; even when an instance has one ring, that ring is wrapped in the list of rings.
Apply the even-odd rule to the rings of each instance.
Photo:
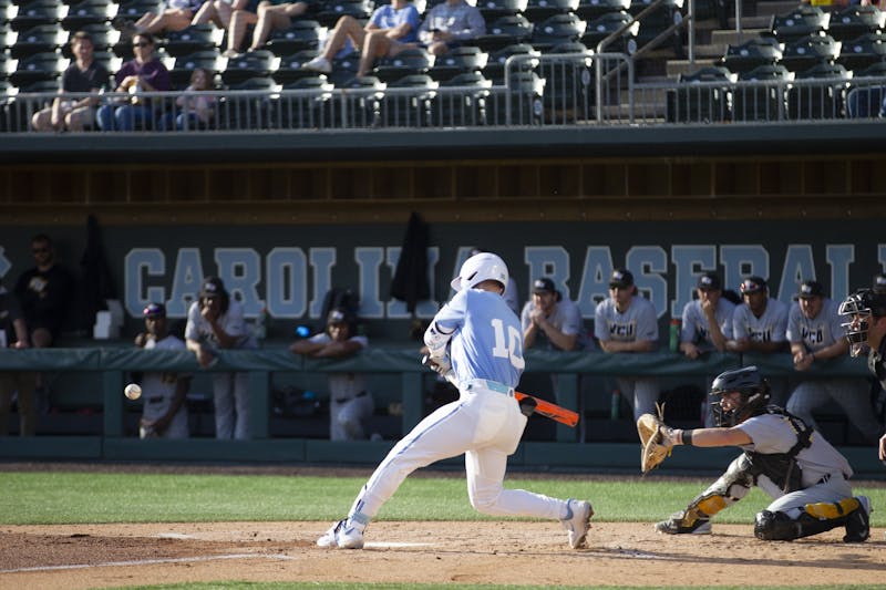
[[[787,341],[792,344],[803,343],[806,352],[815,352],[845,338],[838,310],[838,303],[825,299],[818,314],[808,319],[801,311],[800,304],[794,303],[787,320]],[[787,401],[787,411],[820,429],[813,412],[833,400],[864,437],[873,443],[879,438],[882,427],[874,417],[868,395],[865,380],[814,376],[797,385]]]

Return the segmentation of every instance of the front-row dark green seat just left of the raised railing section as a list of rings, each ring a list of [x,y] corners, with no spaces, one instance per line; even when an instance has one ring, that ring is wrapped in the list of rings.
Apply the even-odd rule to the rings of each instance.
[[[440,84],[431,102],[435,127],[468,127],[486,124],[486,100],[492,81],[480,72],[456,74]],[[447,92],[447,90],[452,92]],[[457,91],[456,91],[457,89]]]

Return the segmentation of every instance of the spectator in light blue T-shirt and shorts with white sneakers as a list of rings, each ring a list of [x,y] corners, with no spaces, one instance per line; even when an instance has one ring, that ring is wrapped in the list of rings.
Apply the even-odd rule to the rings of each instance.
[[[332,59],[351,41],[361,51],[357,75],[364,76],[378,58],[393,58],[404,49],[418,46],[420,21],[419,11],[408,0],[392,0],[390,4],[380,6],[365,27],[346,14],[336,23],[322,53],[305,68],[328,74],[332,71]]]

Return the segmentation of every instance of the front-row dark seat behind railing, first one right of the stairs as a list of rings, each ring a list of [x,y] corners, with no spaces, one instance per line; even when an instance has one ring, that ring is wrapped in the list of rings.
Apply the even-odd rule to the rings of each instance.
[[[668,123],[711,123],[730,118],[730,86],[735,73],[722,66],[702,68],[681,74],[679,85],[668,91]]]

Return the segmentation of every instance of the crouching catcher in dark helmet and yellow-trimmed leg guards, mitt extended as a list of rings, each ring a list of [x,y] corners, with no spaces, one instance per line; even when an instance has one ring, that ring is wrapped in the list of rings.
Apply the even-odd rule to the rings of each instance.
[[[759,486],[774,501],[758,513],[754,535],[793,540],[846,527],[844,542],[869,535],[870,500],[853,497],[846,458],[821,433],[775,405],[766,405],[769,383],[755,366],[721,373],[711,385],[711,407],[719,428],[677,429],[651,414],[637,423],[643,441],[643,472],[655,468],[674,445],[739,446],[735,458],[712,486],[689,506],[656,525],[668,535],[710,535],[711,518]],[[656,427],[650,428],[649,424]]]

